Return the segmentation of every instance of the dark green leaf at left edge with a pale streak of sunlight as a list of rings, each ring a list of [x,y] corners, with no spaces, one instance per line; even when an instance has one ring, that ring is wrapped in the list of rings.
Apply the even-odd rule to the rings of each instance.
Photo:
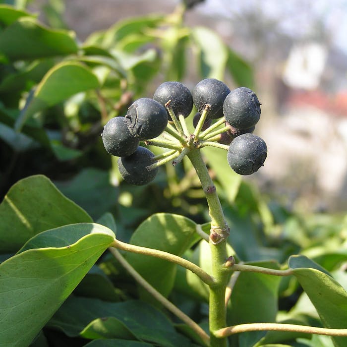
[[[0,253],[16,252],[30,237],[66,224],[92,222],[43,175],[15,183],[0,204]]]

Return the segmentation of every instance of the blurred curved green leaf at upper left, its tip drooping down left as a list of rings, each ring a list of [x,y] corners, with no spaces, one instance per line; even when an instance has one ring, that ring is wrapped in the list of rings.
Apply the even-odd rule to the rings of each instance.
[[[98,78],[88,67],[76,61],[61,62],[46,73],[33,97],[27,100],[15,126],[20,129],[26,119],[36,112],[98,87]]]

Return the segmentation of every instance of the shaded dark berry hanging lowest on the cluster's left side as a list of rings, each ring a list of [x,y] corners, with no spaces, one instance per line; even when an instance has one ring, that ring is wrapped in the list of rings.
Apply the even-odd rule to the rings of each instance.
[[[153,164],[153,157],[154,154],[149,149],[139,146],[130,156],[119,158],[118,169],[124,181],[135,185],[151,182],[158,172],[158,168],[147,170]]]

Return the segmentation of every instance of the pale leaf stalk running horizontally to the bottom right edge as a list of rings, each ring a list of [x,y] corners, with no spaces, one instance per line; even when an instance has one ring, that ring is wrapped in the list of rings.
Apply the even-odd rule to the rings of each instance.
[[[220,329],[215,332],[218,337],[228,337],[233,334],[244,333],[248,331],[289,331],[305,334],[329,335],[329,336],[346,336],[347,329],[330,329],[309,327],[297,324],[282,324],[282,323],[248,323],[239,324],[232,327]]]

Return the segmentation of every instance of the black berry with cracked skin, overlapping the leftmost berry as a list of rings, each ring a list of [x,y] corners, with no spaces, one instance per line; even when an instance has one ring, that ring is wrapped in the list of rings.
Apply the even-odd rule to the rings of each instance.
[[[125,118],[129,119],[129,129],[140,140],[149,140],[159,136],[168,124],[166,109],[150,98],[140,98],[128,108]]]

